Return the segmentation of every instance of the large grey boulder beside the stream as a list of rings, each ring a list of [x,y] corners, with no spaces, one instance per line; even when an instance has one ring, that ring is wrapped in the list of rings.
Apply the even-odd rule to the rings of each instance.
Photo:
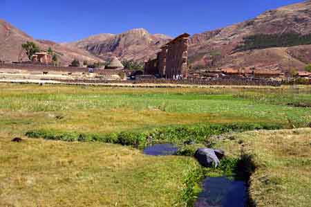
[[[198,160],[200,165],[205,168],[212,168],[213,165],[218,167],[220,159],[223,159],[225,152],[223,150],[213,150],[209,148],[200,148],[196,150],[194,157]]]

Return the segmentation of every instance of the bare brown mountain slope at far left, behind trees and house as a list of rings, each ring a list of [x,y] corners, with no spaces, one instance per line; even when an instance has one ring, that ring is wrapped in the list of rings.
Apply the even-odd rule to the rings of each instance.
[[[102,61],[99,57],[79,48],[69,48],[48,40],[33,39],[30,35],[23,33],[18,28],[15,28],[15,26],[0,19],[0,60],[13,62],[21,58],[23,61],[27,61],[28,57],[21,48],[21,44],[27,41],[35,42],[43,50],[51,47],[57,53],[62,65],[70,64],[75,58],[81,62],[84,60],[88,60],[89,62]]]

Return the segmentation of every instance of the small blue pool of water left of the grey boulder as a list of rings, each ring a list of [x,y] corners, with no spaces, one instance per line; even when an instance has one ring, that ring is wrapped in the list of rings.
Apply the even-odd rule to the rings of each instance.
[[[146,147],[144,149],[144,154],[153,155],[153,156],[165,156],[173,155],[178,151],[178,147],[173,144],[159,144]]]

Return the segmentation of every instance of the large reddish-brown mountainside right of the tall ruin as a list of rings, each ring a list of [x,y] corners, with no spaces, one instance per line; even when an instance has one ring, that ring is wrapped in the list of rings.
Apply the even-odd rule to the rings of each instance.
[[[190,39],[189,62],[198,68],[254,66],[283,71],[289,68],[303,69],[305,64],[311,62],[310,33],[311,1],[304,1],[269,10],[239,24],[193,35]],[[256,41],[248,43],[250,49],[239,51],[237,48],[245,44],[245,37],[252,35],[255,37],[250,39]],[[301,36],[308,40],[305,44],[290,44],[299,42],[297,39]],[[270,41],[269,38],[274,38],[274,42],[265,45]],[[285,41],[280,45],[275,44],[281,42],[280,39]],[[258,43],[258,40],[261,42]]]

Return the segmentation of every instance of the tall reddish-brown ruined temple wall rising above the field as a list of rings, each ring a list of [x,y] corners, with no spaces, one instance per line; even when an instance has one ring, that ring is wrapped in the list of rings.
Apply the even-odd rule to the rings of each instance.
[[[144,75],[167,79],[187,78],[189,37],[189,34],[184,33],[162,46],[156,59],[145,62]]]

